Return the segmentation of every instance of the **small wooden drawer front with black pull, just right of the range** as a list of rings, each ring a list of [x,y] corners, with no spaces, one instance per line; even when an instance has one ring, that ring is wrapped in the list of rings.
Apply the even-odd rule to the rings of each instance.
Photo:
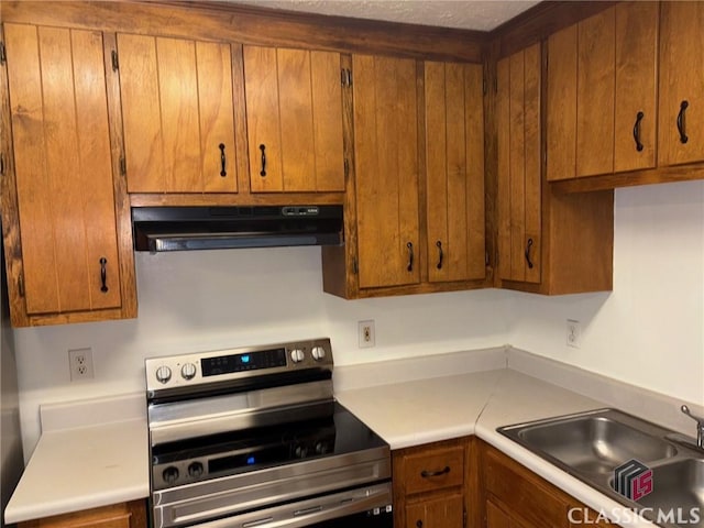
[[[406,493],[421,493],[464,483],[464,448],[430,449],[405,458],[403,479]]]

